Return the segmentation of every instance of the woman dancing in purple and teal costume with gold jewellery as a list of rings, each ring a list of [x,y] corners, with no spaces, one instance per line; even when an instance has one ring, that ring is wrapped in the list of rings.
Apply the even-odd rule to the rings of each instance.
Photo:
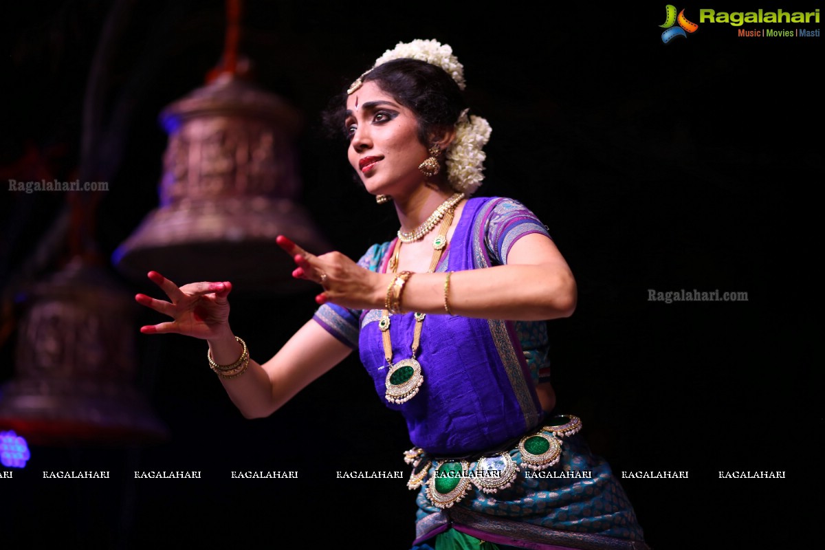
[[[142,327],[209,343],[210,366],[247,417],[269,416],[358,350],[388,407],[407,421],[417,548],[647,548],[610,467],[554,411],[545,322],[576,304],[573,274],[523,204],[470,198],[490,127],[464,105],[448,45],[388,50],[342,93],[327,120],[398,237],[351,261],[287,237],[293,275],[322,287],[314,317],[270,360],[252,360],[229,327],[229,282],[180,288],[149,278],[172,317]],[[482,546],[483,545],[483,546]]]

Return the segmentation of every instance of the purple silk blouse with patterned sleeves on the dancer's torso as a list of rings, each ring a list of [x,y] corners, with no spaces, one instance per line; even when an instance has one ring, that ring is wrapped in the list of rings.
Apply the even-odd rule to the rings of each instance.
[[[535,215],[516,201],[470,199],[436,271],[506,263],[512,243],[530,233],[547,235]],[[392,244],[372,250],[381,258],[378,265],[370,266],[372,269],[386,270]],[[498,257],[491,258],[488,248]],[[365,265],[364,258],[361,264]],[[326,304],[318,308],[314,319],[345,342],[354,336],[351,322],[358,319],[361,362],[386,406],[403,414],[414,445],[441,456],[469,454],[497,447],[539,423],[542,412],[535,378],[528,369],[515,323],[497,319],[427,314],[417,353],[424,382],[408,402],[386,402],[384,381],[389,366],[378,327],[380,314],[380,310],[353,312]],[[413,313],[391,316],[394,362],[412,355],[414,327]]]

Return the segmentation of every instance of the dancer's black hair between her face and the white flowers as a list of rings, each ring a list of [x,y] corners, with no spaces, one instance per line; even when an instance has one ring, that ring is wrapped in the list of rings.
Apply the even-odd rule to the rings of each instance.
[[[412,110],[418,121],[418,139],[429,146],[431,134],[450,128],[466,106],[459,85],[443,68],[417,59],[393,59],[373,68],[363,82],[376,82],[398,103]],[[323,122],[333,136],[347,138],[344,125],[347,92],[334,97],[323,113]]]

